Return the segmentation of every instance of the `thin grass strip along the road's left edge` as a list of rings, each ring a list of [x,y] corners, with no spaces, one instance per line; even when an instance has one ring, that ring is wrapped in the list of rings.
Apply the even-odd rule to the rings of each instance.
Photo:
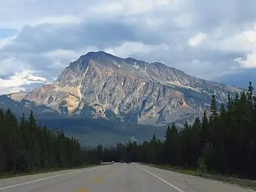
[[[41,170],[33,170],[31,172],[24,172],[24,173],[17,173],[17,174],[3,173],[2,175],[0,175],[0,179],[8,179],[8,178],[12,178],[12,177],[20,177],[20,176],[27,176],[27,175],[36,175],[36,174],[41,174],[41,173],[58,172],[61,170],[83,169],[83,168],[90,168],[93,166],[100,166],[100,165],[102,165],[102,164],[83,165],[83,166],[76,166],[73,168],[41,169]]]

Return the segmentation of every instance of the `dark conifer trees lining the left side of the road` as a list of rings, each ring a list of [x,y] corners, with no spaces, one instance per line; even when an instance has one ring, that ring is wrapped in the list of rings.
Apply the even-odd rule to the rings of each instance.
[[[72,168],[83,162],[79,141],[62,131],[37,125],[33,112],[18,120],[0,108],[0,175]]]

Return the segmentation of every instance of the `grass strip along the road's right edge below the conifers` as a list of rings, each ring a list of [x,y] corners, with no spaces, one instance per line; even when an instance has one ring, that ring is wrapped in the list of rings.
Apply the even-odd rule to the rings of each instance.
[[[204,177],[205,179],[218,180],[224,183],[235,184],[240,187],[256,190],[256,180],[240,179],[239,177],[234,177],[234,176],[222,176],[222,175],[216,175],[216,174],[210,174],[210,173],[202,173],[198,170],[177,168],[169,165],[154,165],[154,164],[148,164],[148,163],[143,163],[143,164],[152,166],[154,168],[170,170],[173,172],[183,173],[186,175]]]

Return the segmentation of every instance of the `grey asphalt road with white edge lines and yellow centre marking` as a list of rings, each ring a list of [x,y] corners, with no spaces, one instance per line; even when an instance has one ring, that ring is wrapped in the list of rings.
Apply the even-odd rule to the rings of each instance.
[[[140,165],[113,163],[0,180],[1,192],[249,192],[201,177]]]

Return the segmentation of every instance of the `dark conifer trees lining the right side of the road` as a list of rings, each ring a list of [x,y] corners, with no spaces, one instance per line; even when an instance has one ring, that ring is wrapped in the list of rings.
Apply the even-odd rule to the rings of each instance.
[[[209,114],[204,112],[193,125],[181,131],[168,126],[165,140],[155,136],[142,144],[118,143],[115,147],[91,150],[91,157],[102,161],[131,160],[201,172],[222,173],[256,178],[256,97],[249,83],[248,91],[227,95],[228,102],[218,106],[212,95]]]

